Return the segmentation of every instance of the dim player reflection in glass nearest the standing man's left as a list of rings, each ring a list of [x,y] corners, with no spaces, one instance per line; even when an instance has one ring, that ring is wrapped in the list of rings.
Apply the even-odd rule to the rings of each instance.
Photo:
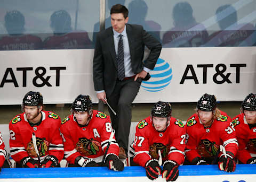
[[[53,36],[44,40],[45,49],[92,48],[92,41],[85,31],[71,28],[71,17],[65,10],[55,11],[50,18]]]

